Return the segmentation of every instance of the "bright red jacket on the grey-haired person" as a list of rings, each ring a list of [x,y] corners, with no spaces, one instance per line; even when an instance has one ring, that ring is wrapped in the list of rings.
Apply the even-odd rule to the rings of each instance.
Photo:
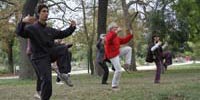
[[[119,55],[119,48],[121,44],[128,43],[133,38],[132,34],[128,34],[126,37],[119,37],[113,31],[109,31],[105,37],[105,57],[111,59]]]

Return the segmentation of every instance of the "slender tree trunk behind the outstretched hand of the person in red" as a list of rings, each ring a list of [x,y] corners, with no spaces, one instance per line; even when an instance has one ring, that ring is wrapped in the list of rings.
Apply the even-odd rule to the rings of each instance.
[[[128,12],[128,7],[126,4],[126,0],[121,0],[122,1],[122,9],[123,9],[123,15],[124,15],[124,20],[125,20],[125,26],[129,30],[133,30],[132,27],[132,21],[130,19],[130,14]],[[134,34],[133,34],[134,35]],[[136,60],[135,60],[135,45],[134,45],[134,38],[129,44],[132,47],[132,59],[131,59],[131,66],[130,70],[136,71]]]

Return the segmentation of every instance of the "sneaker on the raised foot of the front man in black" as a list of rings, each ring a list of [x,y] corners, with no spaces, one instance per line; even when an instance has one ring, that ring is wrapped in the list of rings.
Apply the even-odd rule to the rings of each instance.
[[[60,79],[64,81],[68,86],[73,87],[72,81],[70,80],[70,75],[61,73],[60,74]]]

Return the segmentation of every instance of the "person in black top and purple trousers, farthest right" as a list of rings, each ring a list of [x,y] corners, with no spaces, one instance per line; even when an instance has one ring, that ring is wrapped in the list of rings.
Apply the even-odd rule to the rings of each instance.
[[[163,49],[167,44],[162,45],[160,41],[160,37],[157,34],[152,36],[152,43],[149,46],[149,54],[151,57],[147,57],[148,59],[152,59],[156,64],[156,75],[154,83],[160,83],[160,74],[164,73],[164,68],[167,68],[168,65],[172,64],[172,57],[170,52],[163,52]],[[147,55],[148,56],[148,55]],[[150,61],[150,60],[149,60]]]

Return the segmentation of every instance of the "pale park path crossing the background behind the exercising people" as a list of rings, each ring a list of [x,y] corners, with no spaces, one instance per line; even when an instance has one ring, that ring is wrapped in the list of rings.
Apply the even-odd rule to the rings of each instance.
[[[188,62],[184,62],[184,63],[174,63],[169,67],[172,66],[176,66],[176,65],[187,65],[187,64],[192,64],[194,63],[193,61],[188,61]],[[200,61],[196,61],[195,63],[200,63]],[[154,64],[152,65],[148,65],[148,66],[138,66],[137,70],[141,71],[141,70],[155,70],[156,66]],[[111,69],[109,69],[111,71]],[[80,71],[71,71],[71,75],[75,75],[75,74],[86,74],[88,73],[88,70],[80,70]],[[56,76],[56,73],[52,73],[53,76]],[[18,79],[19,76],[0,76],[0,79]]]

